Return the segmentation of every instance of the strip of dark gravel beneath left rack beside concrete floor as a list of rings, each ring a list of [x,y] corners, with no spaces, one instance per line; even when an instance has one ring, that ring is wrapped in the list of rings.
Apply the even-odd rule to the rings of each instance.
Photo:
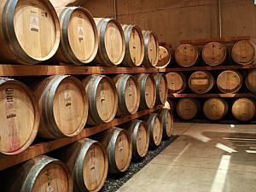
[[[170,137],[168,140],[163,140],[160,146],[156,149],[148,150],[148,154],[143,160],[131,161],[131,165],[128,170],[122,174],[109,176],[100,190],[101,192],[114,192],[118,190],[124,183],[126,183],[134,174],[140,171],[143,166],[146,166],[151,160],[154,159],[162,150],[164,150],[168,145],[170,145],[177,136]]]

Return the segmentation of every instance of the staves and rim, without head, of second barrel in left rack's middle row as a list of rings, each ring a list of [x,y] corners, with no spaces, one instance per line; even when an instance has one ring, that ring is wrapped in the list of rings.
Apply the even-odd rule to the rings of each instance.
[[[73,132],[73,134],[71,135],[66,135],[58,129],[58,126],[56,125],[56,122],[54,119],[54,113],[53,113],[53,103],[54,103],[55,92],[58,88],[58,85],[61,84],[61,81],[63,81],[64,79],[72,79],[73,82],[75,82],[79,86],[79,89],[81,90],[82,95],[84,96],[85,107],[87,106],[87,108],[85,108],[84,118],[81,121],[79,128],[77,129],[77,131]],[[55,75],[55,76],[49,77],[49,79],[44,79],[40,84],[44,84],[42,90],[41,90],[41,87],[39,88],[36,87],[34,89],[34,90],[39,89],[39,90],[36,90],[35,92],[38,97],[39,107],[41,108],[41,121],[39,125],[38,136],[44,137],[44,138],[60,138],[60,137],[74,137],[78,135],[84,129],[84,125],[86,124],[86,119],[88,118],[88,98],[84,91],[84,87],[79,81],[79,79],[76,79],[75,77],[70,75]],[[48,92],[50,92],[50,90],[53,90],[54,94],[50,94],[48,98]],[[40,92],[42,92],[42,94],[40,94]]]

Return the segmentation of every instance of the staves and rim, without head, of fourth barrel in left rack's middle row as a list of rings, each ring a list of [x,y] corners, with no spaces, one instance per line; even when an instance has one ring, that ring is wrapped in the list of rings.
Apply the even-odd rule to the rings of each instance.
[[[132,112],[129,111],[125,102],[125,86],[128,79],[133,79],[135,84],[137,84],[137,102],[136,102],[137,105]],[[118,93],[118,109],[117,109],[116,116],[125,117],[127,115],[137,113],[137,110],[140,104],[140,97],[141,97],[137,79],[130,74],[119,74],[113,78],[113,82],[116,85],[116,90]]]

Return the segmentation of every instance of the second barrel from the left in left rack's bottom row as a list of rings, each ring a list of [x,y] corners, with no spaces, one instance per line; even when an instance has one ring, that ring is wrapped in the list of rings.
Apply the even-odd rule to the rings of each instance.
[[[99,191],[108,174],[108,155],[101,143],[84,138],[57,151],[72,172],[74,192]]]

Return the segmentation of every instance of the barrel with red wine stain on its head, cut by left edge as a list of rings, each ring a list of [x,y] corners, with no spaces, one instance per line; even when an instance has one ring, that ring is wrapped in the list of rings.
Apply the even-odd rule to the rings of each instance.
[[[38,102],[26,84],[0,78],[0,154],[20,154],[38,133]]]

